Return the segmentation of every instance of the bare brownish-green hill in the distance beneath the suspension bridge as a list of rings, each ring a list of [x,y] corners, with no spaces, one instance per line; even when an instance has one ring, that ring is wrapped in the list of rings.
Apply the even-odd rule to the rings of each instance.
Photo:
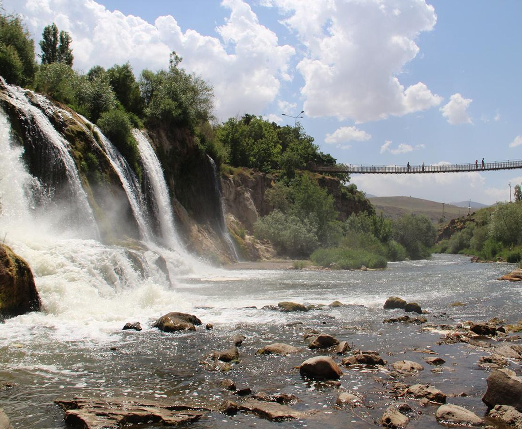
[[[434,223],[443,217],[442,203],[422,198],[412,197],[372,197],[369,198],[377,213],[383,212],[384,216],[396,219],[408,213],[414,215],[426,215]],[[468,214],[468,206],[457,207],[452,204],[444,204],[444,218],[455,219]]]

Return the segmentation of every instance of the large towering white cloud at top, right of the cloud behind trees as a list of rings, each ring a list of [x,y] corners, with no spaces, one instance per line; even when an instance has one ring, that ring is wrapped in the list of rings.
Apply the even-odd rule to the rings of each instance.
[[[417,56],[415,40],[436,23],[424,0],[272,0],[282,22],[306,52],[297,69],[304,78],[304,110],[312,117],[357,122],[438,106],[442,97],[418,82],[398,79]]]

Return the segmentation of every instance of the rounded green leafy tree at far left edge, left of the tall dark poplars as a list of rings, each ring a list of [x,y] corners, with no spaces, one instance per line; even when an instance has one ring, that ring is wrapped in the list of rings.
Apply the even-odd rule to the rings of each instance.
[[[32,86],[36,69],[34,41],[20,18],[0,15],[0,75],[8,83]]]

